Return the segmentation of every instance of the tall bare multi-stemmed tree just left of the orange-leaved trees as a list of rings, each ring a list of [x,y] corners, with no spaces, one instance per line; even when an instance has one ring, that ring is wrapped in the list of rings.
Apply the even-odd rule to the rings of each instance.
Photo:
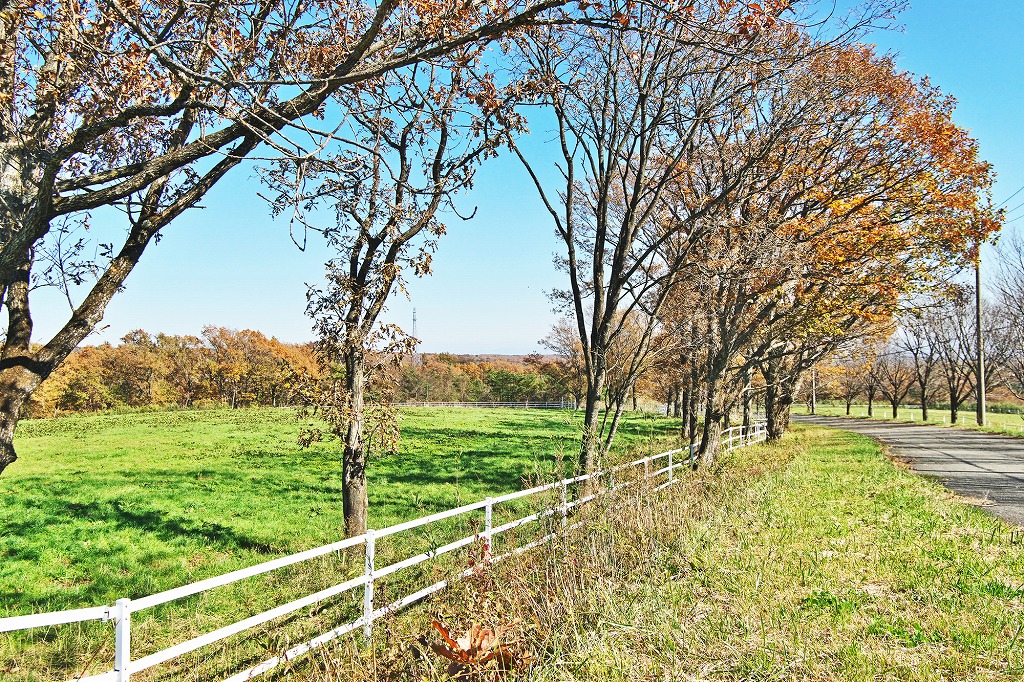
[[[583,347],[584,471],[600,456],[608,350],[624,321],[643,313],[648,327],[637,350],[647,352],[693,228],[735,186],[731,176],[689,185],[687,174],[708,135],[752,100],[768,61],[757,29],[775,20],[755,3],[695,2],[674,11],[624,0],[604,11],[621,26],[535,32],[520,42],[524,92],[555,121],[557,179],[515,147],[564,246],[559,264],[569,286],[555,300],[572,312]],[[688,201],[670,199],[684,184]]]

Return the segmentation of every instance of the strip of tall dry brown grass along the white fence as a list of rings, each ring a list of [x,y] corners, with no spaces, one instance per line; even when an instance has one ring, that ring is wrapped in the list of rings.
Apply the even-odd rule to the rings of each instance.
[[[517,654],[514,670],[482,666],[464,679],[575,679],[595,663],[583,652],[605,639],[628,639],[639,656],[657,656],[662,637],[637,615],[658,598],[659,586],[686,581],[694,570],[685,558],[685,528],[722,513],[724,498],[783,459],[780,450],[761,449],[758,457],[731,460],[714,472],[678,474],[675,485],[656,494],[634,479],[585,507],[554,541],[495,562],[415,612],[378,623],[375,639],[383,637],[373,646],[349,641],[297,663],[289,674],[316,682],[452,679],[447,662],[428,646],[439,639],[433,619],[460,634],[474,624],[508,629],[504,641]],[[550,529],[526,530],[515,541],[503,536],[499,547]],[[618,668],[613,657],[606,664]]]

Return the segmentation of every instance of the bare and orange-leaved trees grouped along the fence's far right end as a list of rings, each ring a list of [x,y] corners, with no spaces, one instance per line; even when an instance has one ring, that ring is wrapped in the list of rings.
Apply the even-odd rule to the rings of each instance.
[[[887,9],[813,35],[761,16],[741,38],[732,15],[640,11],[631,29],[524,48],[562,155],[542,175],[519,153],[564,242],[555,301],[586,379],[583,469],[623,409],[599,417],[601,398],[651,368],[705,464],[756,396],[780,437],[811,367],[998,228],[952,100],[856,42]]]

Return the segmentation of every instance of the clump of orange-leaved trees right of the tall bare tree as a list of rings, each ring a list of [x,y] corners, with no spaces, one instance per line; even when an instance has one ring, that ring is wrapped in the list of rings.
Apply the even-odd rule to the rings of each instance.
[[[751,367],[778,438],[807,370],[889,324],[998,228],[991,169],[951,99],[863,46],[808,51],[745,119],[719,126],[711,161],[680,185],[684,203],[694,183],[757,160],[703,217],[680,283],[707,310],[706,463]]]

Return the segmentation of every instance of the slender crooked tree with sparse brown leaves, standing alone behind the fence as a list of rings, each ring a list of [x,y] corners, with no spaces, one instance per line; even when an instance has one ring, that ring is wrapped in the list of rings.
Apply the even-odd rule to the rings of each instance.
[[[411,274],[430,272],[445,231],[441,212],[520,127],[489,77],[469,66],[479,56],[463,50],[443,65],[419,63],[368,81],[341,98],[347,120],[330,156],[283,162],[267,176],[278,190],[274,211],[323,232],[336,254],[327,286],[309,291],[307,311],[328,384],[313,392],[313,404],[345,443],[349,535],[367,528],[368,360],[403,356],[415,343],[394,326],[381,327],[380,315]],[[387,374],[371,374],[373,426],[388,433]]]

